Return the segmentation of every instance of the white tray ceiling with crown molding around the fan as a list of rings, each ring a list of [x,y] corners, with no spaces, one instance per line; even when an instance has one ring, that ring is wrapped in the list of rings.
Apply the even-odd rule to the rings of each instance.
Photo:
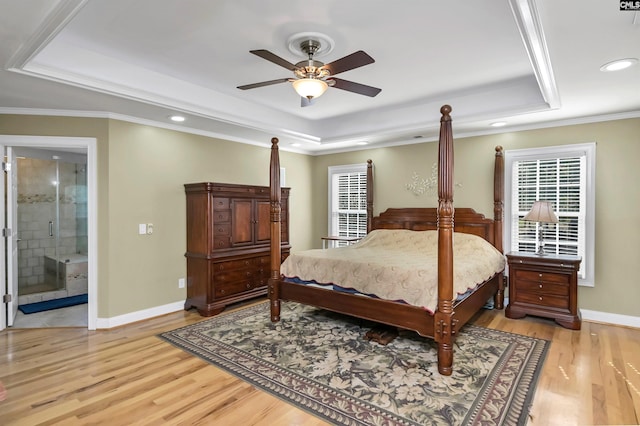
[[[454,136],[640,116],[640,16],[617,0],[0,0],[0,113],[113,117],[322,154]],[[296,63],[299,33],[333,41],[328,63],[375,63],[301,108],[293,77],[249,53]],[[172,124],[168,116],[187,120]],[[500,130],[492,122],[505,121]]]

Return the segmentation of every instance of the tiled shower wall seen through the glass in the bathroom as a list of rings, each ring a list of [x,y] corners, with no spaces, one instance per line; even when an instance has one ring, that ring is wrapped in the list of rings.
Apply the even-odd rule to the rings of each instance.
[[[59,162],[59,176],[59,255],[81,250],[86,254],[86,167],[83,164]],[[56,161],[35,158],[18,160],[20,294],[42,291],[46,281],[44,258],[56,254],[55,236],[49,235],[49,221],[53,222],[54,230],[56,226],[55,181]],[[84,224],[77,224],[78,213]]]

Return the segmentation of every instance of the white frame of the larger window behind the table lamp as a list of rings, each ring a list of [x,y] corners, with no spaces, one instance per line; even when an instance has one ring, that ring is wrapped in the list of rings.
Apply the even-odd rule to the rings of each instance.
[[[596,143],[550,146],[507,150],[505,156],[505,230],[504,247],[512,248],[514,224],[513,213],[513,167],[517,161],[546,160],[553,158],[585,157],[585,244],[578,284],[593,287],[595,284],[595,173]],[[517,202],[517,200],[516,200]]]

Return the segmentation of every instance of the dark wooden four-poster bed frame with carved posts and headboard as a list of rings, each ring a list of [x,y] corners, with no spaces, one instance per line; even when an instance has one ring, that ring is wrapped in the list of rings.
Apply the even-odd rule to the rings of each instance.
[[[367,184],[367,231],[406,229],[437,230],[437,306],[425,309],[409,303],[363,297],[331,289],[286,281],[281,274],[280,255],[280,161],[278,139],[272,139],[270,164],[271,196],[271,274],[268,285],[271,320],[280,320],[281,301],[294,301],[343,314],[413,330],[433,338],[438,345],[438,371],[450,375],[453,365],[453,341],[458,330],[486,302],[494,298],[494,306],[503,308],[503,268],[490,278],[478,281],[461,300],[454,294],[454,207],[453,207],[453,137],[451,107],[440,110],[440,141],[438,146],[438,208],[388,209],[373,217],[371,163]],[[455,231],[482,237],[491,243],[504,265],[502,256],[504,160],[502,148],[496,147],[494,170],[494,219],[487,219],[470,208],[455,210]],[[415,234],[415,233],[413,233]],[[462,239],[462,238],[460,238]],[[360,243],[357,243],[358,245]],[[493,249],[493,248],[492,248]],[[494,249],[494,250],[495,250]],[[329,249],[333,250],[333,249]],[[326,251],[326,250],[324,250]],[[291,257],[291,256],[290,256]],[[434,261],[435,262],[435,261]],[[435,274],[434,271],[431,273]],[[393,281],[393,280],[391,280]],[[339,283],[336,283],[339,284]],[[393,283],[392,283],[393,284]]]

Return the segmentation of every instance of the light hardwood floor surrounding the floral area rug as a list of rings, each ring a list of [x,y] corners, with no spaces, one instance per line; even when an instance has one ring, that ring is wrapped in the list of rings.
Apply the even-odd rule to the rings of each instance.
[[[202,319],[189,311],[94,332],[0,332],[8,389],[0,424],[325,424],[156,337]],[[640,421],[640,329],[583,322],[570,331],[503,311],[483,311],[473,322],[551,340],[530,425]]]

